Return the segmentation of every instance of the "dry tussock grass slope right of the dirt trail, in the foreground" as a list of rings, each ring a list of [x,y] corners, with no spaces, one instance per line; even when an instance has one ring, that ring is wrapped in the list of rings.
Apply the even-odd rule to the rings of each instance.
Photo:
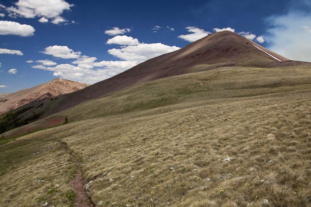
[[[292,98],[97,119],[65,141],[104,206],[307,206],[310,97]]]

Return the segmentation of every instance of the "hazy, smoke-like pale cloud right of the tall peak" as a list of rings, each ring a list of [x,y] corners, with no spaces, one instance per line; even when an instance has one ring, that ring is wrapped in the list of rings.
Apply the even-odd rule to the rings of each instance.
[[[297,1],[286,14],[267,18],[265,40],[270,50],[286,58],[311,62],[311,13],[298,9],[303,7],[311,9],[310,2]]]

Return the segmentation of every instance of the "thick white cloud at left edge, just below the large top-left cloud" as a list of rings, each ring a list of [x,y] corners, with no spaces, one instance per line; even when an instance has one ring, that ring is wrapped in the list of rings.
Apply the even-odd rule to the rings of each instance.
[[[18,35],[22,37],[32,36],[35,29],[27,24],[15,21],[0,21],[0,35]]]

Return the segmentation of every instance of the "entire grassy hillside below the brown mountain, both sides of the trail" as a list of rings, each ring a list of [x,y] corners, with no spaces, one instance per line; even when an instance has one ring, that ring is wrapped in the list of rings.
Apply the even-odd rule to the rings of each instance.
[[[99,207],[310,206],[310,69],[165,78],[9,131],[69,120],[0,145],[0,204],[74,205],[81,168]]]

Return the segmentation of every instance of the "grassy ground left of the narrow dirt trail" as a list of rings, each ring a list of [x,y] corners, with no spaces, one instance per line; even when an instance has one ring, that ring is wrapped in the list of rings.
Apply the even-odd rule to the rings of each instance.
[[[0,145],[0,206],[73,206],[77,166],[57,140],[33,133]]]

